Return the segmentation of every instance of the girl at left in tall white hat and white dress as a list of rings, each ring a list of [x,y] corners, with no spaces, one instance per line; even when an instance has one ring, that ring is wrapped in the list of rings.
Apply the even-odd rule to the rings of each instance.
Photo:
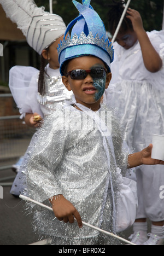
[[[72,92],[62,83],[57,55],[66,25],[60,16],[44,11],[43,7],[38,8],[33,0],[0,0],[0,3],[7,16],[24,33],[27,43],[40,55],[40,72],[26,66],[15,66],[9,72],[9,87],[21,117],[28,126],[38,127],[57,104],[62,105],[64,100],[72,98]],[[10,190],[14,196],[19,196],[24,189],[22,161],[24,157],[13,166],[19,171]]]

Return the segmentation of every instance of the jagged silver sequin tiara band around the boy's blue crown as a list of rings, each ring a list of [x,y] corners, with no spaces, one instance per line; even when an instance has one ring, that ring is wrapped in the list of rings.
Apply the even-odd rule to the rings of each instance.
[[[84,32],[81,32],[80,37],[78,37],[78,35],[74,33],[74,36],[72,37],[72,39],[68,35],[67,40],[65,40],[64,38],[61,44],[58,45],[58,56],[60,55],[61,51],[64,50],[65,48],[75,46],[75,45],[81,45],[81,44],[95,44],[103,48],[110,55],[111,61],[113,61],[114,49],[113,49],[112,43],[109,43],[108,39],[104,41],[103,37],[99,38],[98,34],[96,34],[96,36],[93,37],[92,32],[90,32],[88,36],[86,36]]]

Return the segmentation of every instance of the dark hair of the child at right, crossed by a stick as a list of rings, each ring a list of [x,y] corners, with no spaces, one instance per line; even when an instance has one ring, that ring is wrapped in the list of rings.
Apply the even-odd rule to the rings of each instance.
[[[113,3],[108,4],[109,11],[108,11],[108,30],[111,34],[114,34],[116,28],[118,27],[119,21],[121,19],[122,13],[124,11],[124,4],[125,1],[119,0],[115,1],[112,0]],[[122,25],[120,28],[120,32],[125,32],[127,30],[133,31],[132,22],[130,19],[127,19],[126,16],[122,21]]]

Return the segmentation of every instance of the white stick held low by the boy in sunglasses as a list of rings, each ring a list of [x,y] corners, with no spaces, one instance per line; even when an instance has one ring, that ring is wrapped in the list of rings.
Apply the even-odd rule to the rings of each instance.
[[[30,199],[29,197],[24,196],[24,195],[20,195],[19,197],[20,197],[22,200],[32,202],[32,203],[34,203],[34,204],[36,204],[36,205],[39,205],[39,206],[41,206],[41,207],[44,207],[44,208],[50,210],[51,212],[53,212],[53,210],[52,210],[51,207],[46,206],[46,205],[43,205],[43,203],[34,201],[34,200]],[[130,242],[130,241],[128,241],[128,240],[126,240],[126,239],[120,237],[120,236],[117,236],[117,235],[114,235],[113,233],[110,233],[110,232],[107,232],[107,231],[105,231],[105,230],[99,229],[99,228],[97,228],[96,226],[92,226],[92,225],[90,225],[90,224],[88,224],[88,223],[86,223],[86,222],[82,222],[82,223],[83,223],[84,226],[87,226],[87,227],[89,227],[89,228],[95,229],[95,230],[97,230],[97,231],[99,231],[99,232],[101,232],[101,233],[103,233],[103,234],[106,234],[106,235],[115,237],[115,238],[117,238],[117,239],[119,239],[119,240],[121,240],[121,241],[123,241],[123,242],[125,242],[125,243],[128,243],[129,245],[136,245],[135,243],[132,243],[132,242]]]

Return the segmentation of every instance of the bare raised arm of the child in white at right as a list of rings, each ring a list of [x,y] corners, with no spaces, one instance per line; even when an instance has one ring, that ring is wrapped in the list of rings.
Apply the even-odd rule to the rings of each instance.
[[[133,30],[137,34],[145,67],[152,73],[159,71],[162,67],[162,60],[151,44],[149,37],[143,28],[143,22],[140,14],[138,11],[131,8],[128,8],[127,13],[129,14],[127,15],[127,18],[132,21]]]

